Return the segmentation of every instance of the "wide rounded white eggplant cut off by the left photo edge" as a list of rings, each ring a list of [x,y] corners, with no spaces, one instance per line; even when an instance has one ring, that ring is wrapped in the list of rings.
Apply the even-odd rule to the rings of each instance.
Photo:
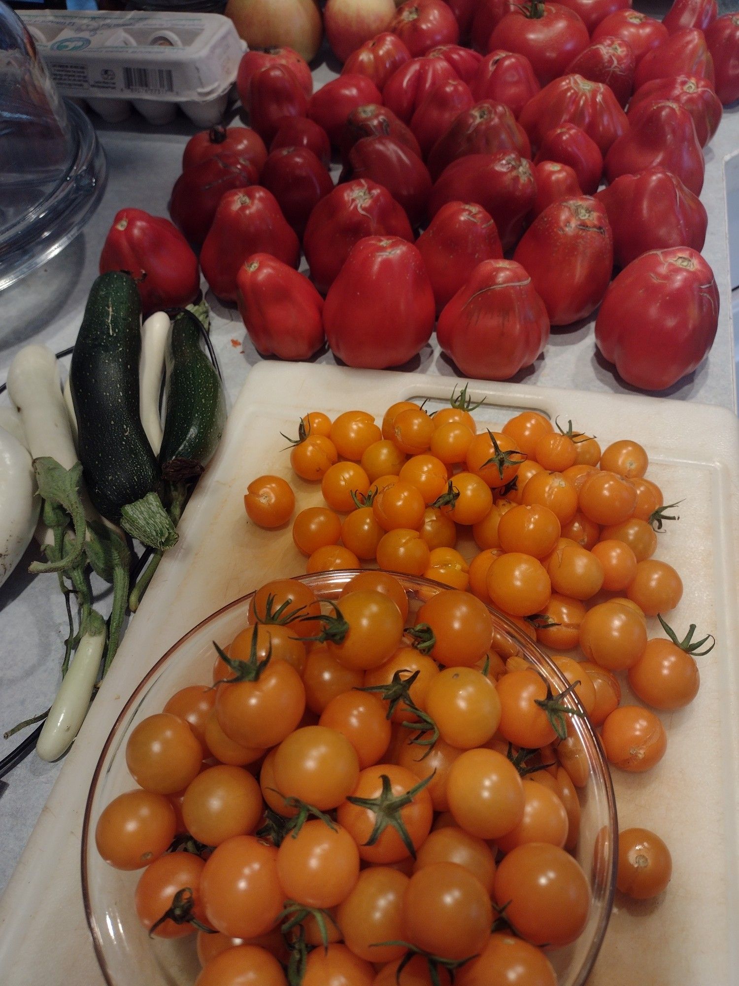
[[[0,428],[0,586],[34,536],[40,503],[28,449]]]

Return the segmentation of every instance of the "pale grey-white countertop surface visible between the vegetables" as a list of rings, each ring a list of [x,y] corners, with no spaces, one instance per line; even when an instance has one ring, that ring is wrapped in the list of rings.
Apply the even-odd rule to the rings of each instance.
[[[316,84],[330,76],[327,66],[316,70]],[[98,120],[96,120],[98,122]],[[108,183],[101,205],[70,246],[24,281],[2,295],[0,322],[0,381],[18,349],[30,341],[59,351],[76,337],[90,286],[98,273],[101,246],[118,209],[135,206],[167,215],[169,191],[179,174],[180,156],[194,127],[180,118],[166,128],[146,124],[134,114],[122,127],[100,127],[108,162]],[[705,187],[702,199],[709,223],[704,254],[718,283],[721,315],[715,344],[703,366],[664,396],[718,404],[735,409],[736,384],[731,325],[726,207],[723,161],[739,148],[739,107],[724,113],[718,133],[706,148]],[[733,179],[736,184],[736,179]],[[229,398],[243,384],[249,367],[259,357],[244,337],[234,307],[225,308],[210,295],[215,318],[212,337],[221,361]],[[332,362],[330,353],[317,362]],[[424,370],[457,381],[453,366],[437,348],[427,346],[408,371]],[[595,353],[592,319],[553,332],[546,354],[516,381],[547,387],[628,392]],[[7,397],[0,397],[0,401]],[[358,395],[358,402],[361,396]],[[306,408],[307,410],[307,408]],[[33,552],[33,548],[31,549]],[[26,572],[30,553],[0,589],[0,734],[20,720],[46,709],[59,679],[66,635],[64,600],[53,576],[32,578]],[[104,603],[103,603],[104,605]],[[0,757],[26,735],[0,739]],[[0,890],[7,883],[51,785],[58,764],[46,764],[30,755],[7,778],[0,797]]]

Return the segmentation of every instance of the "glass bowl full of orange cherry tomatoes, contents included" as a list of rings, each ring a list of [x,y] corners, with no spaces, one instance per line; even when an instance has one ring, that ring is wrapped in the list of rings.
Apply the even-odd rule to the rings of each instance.
[[[269,583],[154,666],[101,752],[82,884],[109,986],[583,986],[616,806],[568,679],[471,594]]]

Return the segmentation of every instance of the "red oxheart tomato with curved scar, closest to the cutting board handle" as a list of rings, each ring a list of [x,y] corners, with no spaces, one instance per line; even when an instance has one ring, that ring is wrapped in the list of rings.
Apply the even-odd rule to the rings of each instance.
[[[519,263],[484,260],[439,316],[437,339],[463,374],[509,380],[544,351],[549,317]]]

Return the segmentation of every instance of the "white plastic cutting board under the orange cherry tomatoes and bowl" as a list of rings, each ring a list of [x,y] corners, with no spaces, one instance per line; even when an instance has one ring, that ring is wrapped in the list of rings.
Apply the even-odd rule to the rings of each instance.
[[[304,571],[290,529],[248,524],[242,494],[250,479],[291,478],[280,432],[297,431],[308,410],[335,416],[365,408],[381,416],[401,399],[445,399],[431,376],[265,362],[238,397],[216,458],[201,479],[168,552],[129,626],[115,663],[67,756],[8,888],[0,899],[0,983],[46,986],[102,982],[80,889],[80,836],[90,779],[103,741],[145,672],[187,630],[270,578]],[[673,854],[668,892],[652,903],[617,905],[590,978],[592,986],[735,986],[739,981],[737,875],[736,647],[739,641],[739,421],[718,407],[523,385],[475,383],[475,412],[501,425],[516,409],[571,419],[603,446],[634,438],[647,449],[648,475],[681,520],[660,535],[658,556],[683,576],[672,614],[715,634],[701,662],[697,700],[666,714],[667,753],[649,773],[614,772],[623,827],[659,832]],[[299,508],[317,502],[299,483]],[[654,631],[656,632],[656,631]]]

